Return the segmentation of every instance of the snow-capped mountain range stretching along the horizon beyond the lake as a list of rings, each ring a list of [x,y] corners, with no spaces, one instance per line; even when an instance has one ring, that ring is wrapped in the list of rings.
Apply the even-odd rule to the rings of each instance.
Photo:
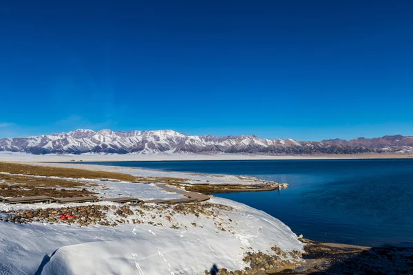
[[[356,140],[299,142],[262,139],[255,135],[215,137],[172,130],[111,131],[78,129],[36,137],[3,138],[0,151],[47,153],[251,153],[268,155],[413,153],[413,137],[386,135]]]

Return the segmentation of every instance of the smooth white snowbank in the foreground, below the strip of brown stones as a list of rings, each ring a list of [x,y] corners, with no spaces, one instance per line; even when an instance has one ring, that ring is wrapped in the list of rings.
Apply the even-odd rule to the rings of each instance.
[[[78,228],[0,221],[0,274],[203,274],[213,263],[243,269],[248,251],[274,254],[274,245],[285,252],[302,251],[290,228],[269,214],[227,199],[211,203],[233,210],[220,210],[214,219],[174,214],[169,223],[179,223],[179,229],[168,224]],[[153,214],[149,219],[167,223],[160,213]],[[217,219],[231,230],[218,230]]]

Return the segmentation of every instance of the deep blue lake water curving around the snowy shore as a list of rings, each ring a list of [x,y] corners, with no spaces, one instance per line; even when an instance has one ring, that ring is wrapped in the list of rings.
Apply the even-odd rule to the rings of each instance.
[[[413,246],[413,159],[93,164],[252,175],[286,182],[290,186],[280,192],[215,195],[264,210],[308,239],[369,246]]]

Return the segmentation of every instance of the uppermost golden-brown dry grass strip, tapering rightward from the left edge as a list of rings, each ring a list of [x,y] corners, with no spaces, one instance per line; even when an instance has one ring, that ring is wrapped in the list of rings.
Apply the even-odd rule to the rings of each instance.
[[[118,179],[122,181],[136,181],[136,177],[123,173],[84,170],[77,168],[16,164],[11,162],[0,162],[0,172],[23,175],[72,177],[75,179],[83,177],[85,179]]]

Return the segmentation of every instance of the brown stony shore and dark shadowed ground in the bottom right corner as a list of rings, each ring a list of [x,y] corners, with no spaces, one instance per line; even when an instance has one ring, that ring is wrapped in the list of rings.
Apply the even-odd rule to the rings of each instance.
[[[285,274],[413,274],[413,248],[368,248],[337,243],[318,243],[301,239],[306,243],[304,254],[289,252],[290,262],[277,256],[287,256],[277,247],[271,248],[275,255],[262,252],[246,253],[244,261],[250,264],[245,270],[229,271],[225,268],[220,274],[235,275],[285,275]],[[305,261],[296,261],[301,258]],[[205,270],[208,274],[208,270]]]

